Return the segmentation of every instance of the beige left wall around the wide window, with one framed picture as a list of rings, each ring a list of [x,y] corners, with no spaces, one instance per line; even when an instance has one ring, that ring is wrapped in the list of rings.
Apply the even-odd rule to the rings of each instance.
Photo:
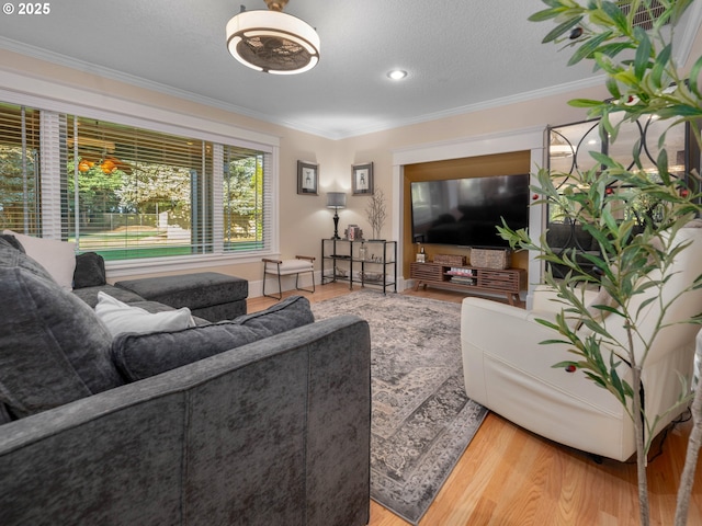
[[[129,103],[138,103],[167,111],[171,116],[173,113],[195,116],[214,125],[224,124],[278,137],[280,139],[281,255],[284,258],[294,254],[317,256],[320,252],[320,238],[330,237],[333,232],[332,214],[325,207],[325,193],[329,190],[346,190],[339,186],[342,183],[338,174],[342,167],[336,155],[339,148],[337,141],[0,49],[0,75],[3,71],[26,79],[27,93],[42,99],[48,98],[54,104],[61,102],[81,104],[95,110],[128,115]],[[5,79],[9,77],[10,75]],[[0,89],[7,89],[8,82],[3,82],[0,77]],[[216,126],[213,126],[213,129],[215,128]],[[320,194],[318,196],[297,195],[297,160],[319,163]],[[343,171],[349,172],[348,183],[344,181],[348,186],[351,181],[350,168],[343,167]],[[220,266],[193,268],[193,272],[203,270],[233,274],[256,282],[261,279],[262,265],[260,261],[227,263]],[[158,274],[182,272],[159,272]],[[144,275],[146,274],[133,273],[129,277]],[[125,277],[113,276],[111,281],[123,278]]]

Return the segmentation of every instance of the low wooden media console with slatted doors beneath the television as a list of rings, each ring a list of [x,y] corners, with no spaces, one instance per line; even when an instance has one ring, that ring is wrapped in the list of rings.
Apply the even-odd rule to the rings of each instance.
[[[419,287],[440,287],[468,294],[503,294],[509,305],[518,305],[526,281],[523,268],[483,268],[444,263],[410,263],[409,277]]]

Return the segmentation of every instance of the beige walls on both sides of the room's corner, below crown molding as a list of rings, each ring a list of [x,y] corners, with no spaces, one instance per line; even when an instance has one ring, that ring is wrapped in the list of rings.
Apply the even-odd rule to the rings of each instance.
[[[702,43],[698,39],[692,56],[700,55]],[[383,237],[390,239],[393,232],[401,232],[401,210],[393,209],[394,153],[427,144],[455,141],[483,135],[503,134],[546,125],[566,124],[585,118],[581,110],[567,105],[574,98],[607,98],[604,88],[589,88],[568,93],[554,93],[499,107],[488,107],[463,115],[445,117],[420,124],[403,126],[364,136],[331,140],[295,129],[258,121],[218,107],[180,99],[127,83],[105,79],[97,75],[77,71],[64,66],[48,64],[12,52],[0,49],[0,71],[26,79],[27,92],[37,96],[49,96],[67,103],[92,104],[100,108],[129,113],[129,103],[148,105],[206,119],[217,124],[236,126],[252,133],[280,138],[280,253],[287,258],[294,254],[319,256],[320,239],[333,231],[332,213],[325,207],[326,192],[349,193],[348,207],[340,210],[339,227],[358,224],[366,232],[370,226],[365,218],[366,197],[351,196],[351,165],[372,161],[375,186],[388,196],[389,219],[383,228]],[[0,79],[0,89],[7,89]],[[554,92],[559,91],[554,89]],[[427,94],[431,96],[431,94]],[[88,101],[88,102],[87,102]],[[102,101],[102,102],[101,102]],[[118,101],[115,103],[115,101]],[[103,104],[104,103],[104,104]],[[109,105],[117,107],[107,107]],[[319,163],[320,195],[297,195],[297,160]],[[317,261],[319,267],[319,261]],[[197,268],[201,270],[201,268]],[[215,266],[213,270],[235,274],[250,282],[261,278],[260,262],[245,262]],[[182,271],[181,271],[182,272]]]

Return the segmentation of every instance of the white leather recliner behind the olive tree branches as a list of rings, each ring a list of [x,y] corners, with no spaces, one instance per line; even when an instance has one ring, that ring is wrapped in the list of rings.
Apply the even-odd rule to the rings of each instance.
[[[702,273],[702,228],[684,228],[677,240],[691,240],[692,244],[676,259],[677,274],[666,284],[664,298],[678,294]],[[654,289],[649,290],[655,294]],[[634,308],[647,297],[648,294],[637,297]],[[485,298],[463,300],[461,341],[466,393],[541,436],[595,455],[626,460],[636,451],[636,446],[634,424],[622,404],[582,371],[553,367],[578,358],[567,352],[566,344],[540,343],[559,339],[557,332],[535,321],[554,319],[555,312],[563,308],[563,304],[553,298],[553,291],[537,290],[531,311]],[[659,302],[653,301],[644,309],[643,324],[653,327],[660,315]],[[686,293],[668,309],[665,321],[689,319],[700,312],[702,290]],[[624,341],[621,318],[609,316],[604,323],[615,338]],[[676,324],[664,329],[654,341],[642,378],[645,411],[650,422],[675,404],[681,392],[679,376],[691,385],[699,331],[700,325]],[[642,345],[635,348],[641,357]],[[608,359],[604,352],[602,355]],[[619,371],[631,384],[631,370],[625,363]],[[683,410],[665,414],[654,434]]]

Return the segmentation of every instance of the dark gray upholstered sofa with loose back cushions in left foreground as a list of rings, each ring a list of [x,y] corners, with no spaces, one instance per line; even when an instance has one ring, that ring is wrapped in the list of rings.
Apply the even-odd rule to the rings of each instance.
[[[112,338],[87,290],[12,244],[0,239],[0,524],[369,522],[365,321],[314,322],[293,297]]]

